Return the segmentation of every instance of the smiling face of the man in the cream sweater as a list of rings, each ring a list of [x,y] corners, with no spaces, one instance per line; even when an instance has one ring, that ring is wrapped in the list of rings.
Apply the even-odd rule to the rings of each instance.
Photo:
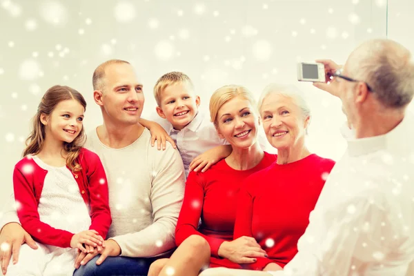
[[[95,90],[94,97],[103,110],[103,120],[115,124],[137,124],[144,108],[142,84],[128,63],[107,66],[103,90]]]

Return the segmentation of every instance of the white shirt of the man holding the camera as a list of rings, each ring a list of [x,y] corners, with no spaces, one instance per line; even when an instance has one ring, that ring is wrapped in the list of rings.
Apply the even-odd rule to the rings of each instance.
[[[411,114],[386,135],[349,139],[299,252],[273,275],[414,275],[413,141]]]

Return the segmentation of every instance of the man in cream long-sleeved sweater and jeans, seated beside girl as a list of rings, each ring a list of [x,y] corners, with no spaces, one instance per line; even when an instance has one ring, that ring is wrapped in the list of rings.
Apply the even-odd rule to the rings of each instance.
[[[170,144],[166,150],[152,147],[149,130],[139,124],[144,94],[130,63],[102,63],[94,72],[93,87],[103,125],[88,135],[86,148],[99,155],[106,170],[112,226],[101,255],[79,253],[76,266],[83,266],[75,275],[146,275],[155,256],[175,247],[184,166]],[[3,273],[11,250],[17,262],[20,244],[35,247],[13,221],[18,221],[15,211],[9,211],[0,225],[6,224],[0,235]]]

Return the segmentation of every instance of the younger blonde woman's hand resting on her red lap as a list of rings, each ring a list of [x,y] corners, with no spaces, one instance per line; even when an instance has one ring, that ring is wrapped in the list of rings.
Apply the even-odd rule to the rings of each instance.
[[[256,262],[257,257],[267,257],[266,251],[257,244],[256,240],[246,236],[232,242],[224,242],[219,247],[218,254],[236,264],[252,264]]]

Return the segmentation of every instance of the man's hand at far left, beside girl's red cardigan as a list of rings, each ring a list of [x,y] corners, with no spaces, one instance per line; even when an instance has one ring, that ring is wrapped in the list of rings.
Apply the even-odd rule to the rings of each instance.
[[[6,275],[10,263],[10,257],[13,255],[13,264],[17,264],[20,246],[25,243],[31,248],[37,249],[36,242],[20,224],[12,222],[3,227],[0,233],[0,264],[1,272],[4,275]]]

